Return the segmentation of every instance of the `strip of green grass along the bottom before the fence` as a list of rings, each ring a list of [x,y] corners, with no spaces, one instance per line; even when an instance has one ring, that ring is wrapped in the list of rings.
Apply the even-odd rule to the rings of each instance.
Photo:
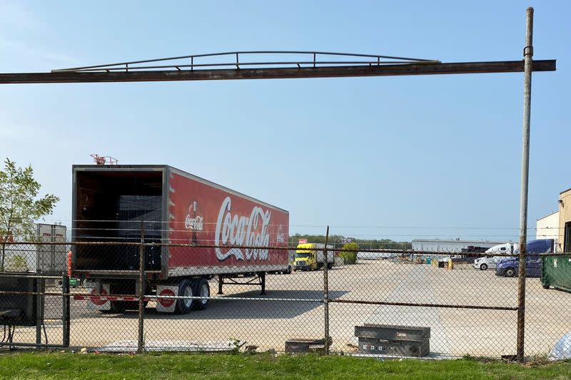
[[[268,354],[0,354],[1,379],[571,379],[571,364]]]

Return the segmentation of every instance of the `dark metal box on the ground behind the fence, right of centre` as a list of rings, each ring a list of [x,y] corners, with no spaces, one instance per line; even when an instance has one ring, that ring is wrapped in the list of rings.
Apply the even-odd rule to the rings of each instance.
[[[368,354],[426,356],[430,354],[430,327],[365,324],[355,326],[359,351]]]

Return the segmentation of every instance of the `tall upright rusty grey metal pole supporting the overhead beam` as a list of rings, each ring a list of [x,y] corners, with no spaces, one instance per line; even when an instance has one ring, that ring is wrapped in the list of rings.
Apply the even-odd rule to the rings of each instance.
[[[527,190],[530,177],[530,114],[531,73],[533,56],[533,8],[527,14],[525,48],[523,48],[523,127],[522,127],[522,178],[520,193],[520,268],[517,277],[517,361],[524,361],[525,342],[525,245],[527,243]]]

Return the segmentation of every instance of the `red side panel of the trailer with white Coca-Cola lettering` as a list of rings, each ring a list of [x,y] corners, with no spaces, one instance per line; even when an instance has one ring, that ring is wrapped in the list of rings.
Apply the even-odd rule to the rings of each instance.
[[[288,212],[178,170],[170,171],[168,197],[168,241],[217,246],[170,247],[169,275],[204,267],[238,273],[288,266]],[[256,248],[268,246],[284,250]]]

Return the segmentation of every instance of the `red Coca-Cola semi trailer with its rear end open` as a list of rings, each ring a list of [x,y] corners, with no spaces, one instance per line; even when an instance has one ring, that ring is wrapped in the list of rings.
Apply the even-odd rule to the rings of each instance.
[[[72,173],[74,274],[89,279],[88,302],[102,312],[136,307],[133,297],[105,296],[137,294],[140,246],[132,243],[141,239],[169,244],[144,246],[146,295],[209,297],[209,279],[221,294],[241,277],[263,293],[267,272],[288,270],[289,214],[281,208],[168,165],[74,165]],[[156,301],[158,312],[181,314],[208,304]]]

